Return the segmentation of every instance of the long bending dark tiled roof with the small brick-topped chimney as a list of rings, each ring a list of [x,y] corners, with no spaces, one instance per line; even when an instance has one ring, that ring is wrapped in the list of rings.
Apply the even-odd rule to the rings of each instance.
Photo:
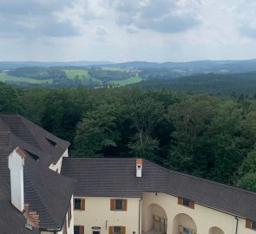
[[[135,177],[135,159],[65,158],[62,174],[77,179],[76,196],[141,197],[142,192],[166,192],[200,205],[256,220],[256,192],[223,185],[143,160]]]

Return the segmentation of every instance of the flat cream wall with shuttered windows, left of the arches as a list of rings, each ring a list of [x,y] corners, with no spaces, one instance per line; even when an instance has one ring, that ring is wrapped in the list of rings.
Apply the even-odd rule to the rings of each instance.
[[[101,227],[101,234],[107,234],[109,226],[126,226],[127,234],[138,234],[140,198],[126,198],[127,211],[110,211],[110,199],[85,197],[85,211],[74,211],[75,225],[84,225],[86,234],[92,233],[93,226]]]

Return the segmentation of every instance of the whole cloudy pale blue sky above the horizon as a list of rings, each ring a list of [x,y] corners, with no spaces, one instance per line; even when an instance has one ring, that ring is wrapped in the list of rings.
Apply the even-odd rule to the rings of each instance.
[[[255,0],[0,0],[0,61],[253,58]]]

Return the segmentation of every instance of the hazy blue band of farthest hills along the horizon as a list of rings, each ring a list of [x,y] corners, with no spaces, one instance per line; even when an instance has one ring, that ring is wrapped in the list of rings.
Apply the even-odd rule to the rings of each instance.
[[[226,60],[226,61],[193,61],[193,62],[0,62],[0,69],[14,69],[22,67],[102,67],[132,68],[132,69],[168,69],[172,73],[192,75],[194,73],[242,73],[256,71],[256,59],[252,60]]]

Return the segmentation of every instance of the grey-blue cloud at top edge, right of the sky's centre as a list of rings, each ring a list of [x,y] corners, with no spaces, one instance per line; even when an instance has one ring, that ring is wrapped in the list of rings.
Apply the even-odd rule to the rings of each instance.
[[[199,7],[199,1],[193,1]],[[116,23],[138,29],[152,29],[161,33],[176,33],[193,29],[200,24],[199,16],[186,1],[154,0],[112,1]]]

